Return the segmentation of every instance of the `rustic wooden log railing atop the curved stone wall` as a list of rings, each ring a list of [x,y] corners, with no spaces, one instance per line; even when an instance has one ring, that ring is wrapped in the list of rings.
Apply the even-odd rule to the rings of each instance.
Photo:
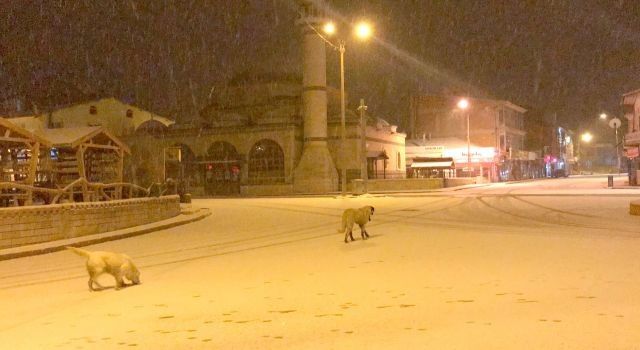
[[[37,187],[15,182],[0,182],[0,206],[32,205],[40,198],[44,204],[56,204],[61,200],[99,202],[125,198],[148,197],[151,188],[127,182],[109,184],[89,182],[79,178],[63,188]]]

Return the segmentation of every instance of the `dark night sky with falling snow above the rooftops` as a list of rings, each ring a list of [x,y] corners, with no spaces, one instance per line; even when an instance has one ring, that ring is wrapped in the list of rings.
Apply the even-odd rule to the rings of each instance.
[[[354,106],[406,125],[409,96],[456,93],[557,113],[575,127],[640,88],[640,2],[330,1]],[[41,110],[115,96],[188,120],[238,74],[299,73],[293,0],[0,1],[0,100]],[[329,84],[339,86],[328,49]]]

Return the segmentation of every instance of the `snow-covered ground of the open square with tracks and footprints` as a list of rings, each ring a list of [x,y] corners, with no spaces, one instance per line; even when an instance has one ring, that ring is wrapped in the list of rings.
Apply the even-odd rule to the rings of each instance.
[[[88,247],[132,256],[138,286],[89,292],[67,251],[0,261],[0,344],[637,349],[640,190],[605,186],[196,200],[213,214]],[[367,204],[372,237],[343,243],[342,210]]]

